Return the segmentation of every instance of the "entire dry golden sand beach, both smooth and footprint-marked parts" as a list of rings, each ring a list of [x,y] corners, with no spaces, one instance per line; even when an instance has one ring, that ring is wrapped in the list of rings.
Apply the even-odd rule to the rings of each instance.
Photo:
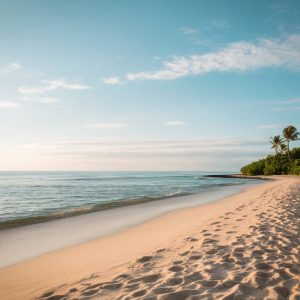
[[[300,299],[300,177],[0,269],[0,299]]]

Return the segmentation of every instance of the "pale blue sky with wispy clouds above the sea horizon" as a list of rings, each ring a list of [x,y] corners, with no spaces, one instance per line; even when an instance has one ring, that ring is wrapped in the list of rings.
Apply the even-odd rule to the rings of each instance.
[[[300,129],[298,0],[0,0],[0,41],[0,170],[238,171]]]

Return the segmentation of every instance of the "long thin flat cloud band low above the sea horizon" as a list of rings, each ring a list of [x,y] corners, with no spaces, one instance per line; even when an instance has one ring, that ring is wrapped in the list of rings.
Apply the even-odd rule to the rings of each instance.
[[[97,151],[108,153],[210,153],[231,152],[233,150],[245,150],[245,148],[264,147],[265,140],[261,138],[253,138],[251,141],[246,141],[238,138],[194,138],[194,139],[139,139],[139,140],[114,140],[114,139],[93,139],[93,140],[78,140],[64,141],[55,143],[29,144],[23,147],[28,149],[41,149],[47,151],[58,151],[72,149],[77,151]]]

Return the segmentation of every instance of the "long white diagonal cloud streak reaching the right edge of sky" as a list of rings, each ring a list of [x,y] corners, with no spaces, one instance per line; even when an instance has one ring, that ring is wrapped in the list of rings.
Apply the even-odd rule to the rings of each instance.
[[[216,52],[173,56],[155,71],[127,73],[124,80],[174,80],[209,72],[246,72],[260,68],[300,71],[300,35],[282,39],[258,39],[229,44]]]

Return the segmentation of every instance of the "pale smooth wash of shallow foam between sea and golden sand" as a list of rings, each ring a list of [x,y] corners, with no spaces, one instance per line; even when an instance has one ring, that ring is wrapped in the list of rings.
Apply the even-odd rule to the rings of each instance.
[[[2,229],[0,230],[0,267],[109,236],[178,209],[219,201],[251,185],[223,186],[181,197],[168,197],[160,201],[124,205],[69,218]]]

